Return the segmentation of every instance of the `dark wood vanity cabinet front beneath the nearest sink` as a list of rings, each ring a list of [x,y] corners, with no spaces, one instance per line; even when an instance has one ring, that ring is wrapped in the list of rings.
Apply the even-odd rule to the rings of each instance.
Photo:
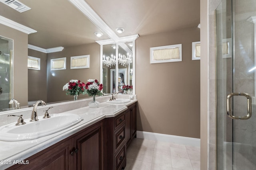
[[[103,121],[25,159],[8,170],[102,170]]]

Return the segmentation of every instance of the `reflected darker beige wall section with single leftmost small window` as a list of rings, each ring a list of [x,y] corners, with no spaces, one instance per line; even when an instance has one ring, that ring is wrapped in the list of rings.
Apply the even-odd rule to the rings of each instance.
[[[28,49],[28,55],[31,57],[40,58],[40,70],[28,69],[28,101],[43,100],[44,102],[47,102],[47,54]]]

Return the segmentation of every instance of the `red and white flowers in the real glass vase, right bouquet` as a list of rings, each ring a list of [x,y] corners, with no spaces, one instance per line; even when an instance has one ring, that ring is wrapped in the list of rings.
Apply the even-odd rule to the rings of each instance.
[[[89,79],[88,82],[85,84],[85,91],[89,96],[102,96],[103,93],[101,90],[103,89],[103,84],[100,84],[98,80]]]

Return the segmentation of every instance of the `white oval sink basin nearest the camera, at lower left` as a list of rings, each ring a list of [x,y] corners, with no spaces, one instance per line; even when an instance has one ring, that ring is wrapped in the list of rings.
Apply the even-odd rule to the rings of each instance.
[[[38,117],[39,121],[30,122],[30,119],[24,120],[25,125],[16,126],[16,122],[0,127],[0,140],[2,141],[24,141],[37,139],[57,133],[69,127],[72,127],[83,120],[76,114],[60,113],[52,114],[50,118],[43,119]]]

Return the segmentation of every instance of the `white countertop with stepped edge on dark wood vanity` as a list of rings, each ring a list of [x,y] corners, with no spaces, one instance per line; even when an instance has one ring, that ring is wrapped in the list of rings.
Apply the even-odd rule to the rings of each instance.
[[[109,104],[102,102],[98,108],[90,108],[87,106],[65,111],[62,113],[77,114],[84,120],[68,129],[38,139],[14,142],[0,141],[0,170],[12,166],[12,163],[16,160],[24,160],[36,154],[106,117],[114,117],[122,113],[127,109],[126,106],[135,102],[137,102],[137,100],[131,100],[131,102],[125,104]]]

